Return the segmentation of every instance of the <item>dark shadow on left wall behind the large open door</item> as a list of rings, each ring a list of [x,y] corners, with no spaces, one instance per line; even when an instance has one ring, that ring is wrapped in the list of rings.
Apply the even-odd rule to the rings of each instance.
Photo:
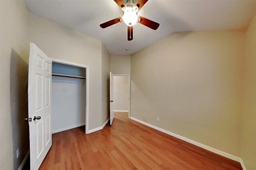
[[[14,169],[18,169],[29,150],[28,63],[12,49],[10,58],[10,109]],[[20,148],[19,158],[16,150]]]

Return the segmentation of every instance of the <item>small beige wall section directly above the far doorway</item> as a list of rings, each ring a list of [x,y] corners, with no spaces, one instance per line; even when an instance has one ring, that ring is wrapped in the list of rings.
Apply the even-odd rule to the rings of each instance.
[[[130,74],[131,55],[111,55],[110,70],[113,74]]]

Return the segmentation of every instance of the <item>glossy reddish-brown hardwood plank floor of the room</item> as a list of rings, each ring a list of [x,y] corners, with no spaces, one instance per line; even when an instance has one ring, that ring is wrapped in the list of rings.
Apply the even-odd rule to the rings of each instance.
[[[112,126],[86,135],[84,126],[55,133],[40,170],[242,170],[239,162],[116,112]]]

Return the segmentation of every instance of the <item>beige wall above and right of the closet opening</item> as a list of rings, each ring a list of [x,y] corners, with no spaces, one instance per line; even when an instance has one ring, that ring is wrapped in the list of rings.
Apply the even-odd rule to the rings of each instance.
[[[89,130],[102,126],[101,41],[29,12],[29,41],[48,57],[89,66]]]

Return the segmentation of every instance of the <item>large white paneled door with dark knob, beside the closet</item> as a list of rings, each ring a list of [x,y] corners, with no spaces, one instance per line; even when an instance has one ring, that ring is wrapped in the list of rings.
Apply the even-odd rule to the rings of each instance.
[[[30,169],[38,170],[52,146],[52,60],[30,43],[28,121]]]

